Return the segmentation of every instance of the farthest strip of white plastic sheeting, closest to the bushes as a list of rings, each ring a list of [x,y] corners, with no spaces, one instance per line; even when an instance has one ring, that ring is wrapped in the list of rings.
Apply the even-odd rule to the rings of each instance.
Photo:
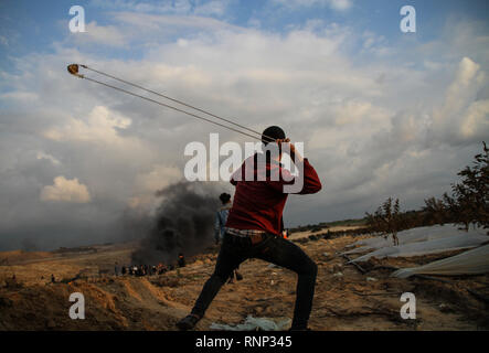
[[[402,231],[397,233],[398,244],[405,245],[405,244],[412,244],[417,242],[429,242],[429,240],[436,240],[447,237],[453,237],[457,235],[485,235],[486,231],[481,228],[470,228],[469,232],[459,231],[456,225],[453,224],[446,224],[446,225],[434,225],[429,227],[418,227],[418,228],[412,228],[407,231]],[[349,252],[344,252],[342,254],[358,254],[358,253],[364,253],[366,250],[372,249],[380,249],[383,247],[390,247],[393,246],[394,243],[392,240],[392,236],[389,236],[387,238],[384,238],[382,236],[376,236],[372,238],[366,238],[359,240],[357,243],[353,243],[349,245],[348,247],[352,246],[360,246],[358,248],[354,248]]]

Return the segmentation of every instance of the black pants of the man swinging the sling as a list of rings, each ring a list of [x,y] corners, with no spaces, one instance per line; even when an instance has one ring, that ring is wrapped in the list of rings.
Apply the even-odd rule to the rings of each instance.
[[[291,328],[305,329],[312,308],[318,267],[300,247],[272,234],[265,234],[264,239],[255,245],[252,245],[249,238],[225,234],[214,274],[202,288],[192,313],[203,317],[232,271],[248,258],[259,258],[297,272],[296,304]]]

